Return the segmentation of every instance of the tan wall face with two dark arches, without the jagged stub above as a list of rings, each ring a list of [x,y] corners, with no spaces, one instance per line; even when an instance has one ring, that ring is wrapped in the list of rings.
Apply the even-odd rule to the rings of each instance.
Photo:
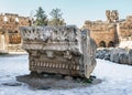
[[[90,30],[90,36],[96,41],[98,46],[114,46],[116,43],[116,24],[106,22],[88,22],[85,28]]]

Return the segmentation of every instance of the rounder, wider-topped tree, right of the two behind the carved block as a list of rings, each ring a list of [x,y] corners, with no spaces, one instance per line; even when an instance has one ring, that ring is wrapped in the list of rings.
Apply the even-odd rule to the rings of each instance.
[[[53,9],[50,13],[52,20],[48,22],[48,25],[65,25],[64,19],[62,19],[63,12],[61,9]]]

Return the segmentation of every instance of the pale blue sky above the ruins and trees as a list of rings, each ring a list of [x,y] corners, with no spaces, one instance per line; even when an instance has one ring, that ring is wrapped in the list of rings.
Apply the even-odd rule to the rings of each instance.
[[[46,14],[62,9],[67,24],[82,27],[85,20],[106,20],[106,10],[118,10],[120,18],[132,14],[132,0],[0,0],[0,13],[30,17],[42,7]]]

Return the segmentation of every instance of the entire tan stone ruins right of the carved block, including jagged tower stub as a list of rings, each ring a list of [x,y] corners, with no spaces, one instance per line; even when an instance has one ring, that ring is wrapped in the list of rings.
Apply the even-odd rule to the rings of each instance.
[[[119,19],[117,10],[106,11],[107,21],[90,21],[87,20],[82,29],[90,31],[91,38],[96,41],[98,46],[110,48],[132,48],[132,15],[127,19]],[[128,43],[120,45],[122,43]]]

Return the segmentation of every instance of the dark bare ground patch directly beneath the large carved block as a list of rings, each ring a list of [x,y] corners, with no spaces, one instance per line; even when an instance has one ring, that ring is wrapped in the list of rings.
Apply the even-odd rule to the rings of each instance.
[[[101,80],[91,76],[89,80],[80,77],[70,77],[63,75],[48,75],[32,76],[22,75],[16,76],[16,81],[23,82],[30,85],[31,88],[35,89],[59,89],[59,88],[76,88],[87,87],[101,83]]]

